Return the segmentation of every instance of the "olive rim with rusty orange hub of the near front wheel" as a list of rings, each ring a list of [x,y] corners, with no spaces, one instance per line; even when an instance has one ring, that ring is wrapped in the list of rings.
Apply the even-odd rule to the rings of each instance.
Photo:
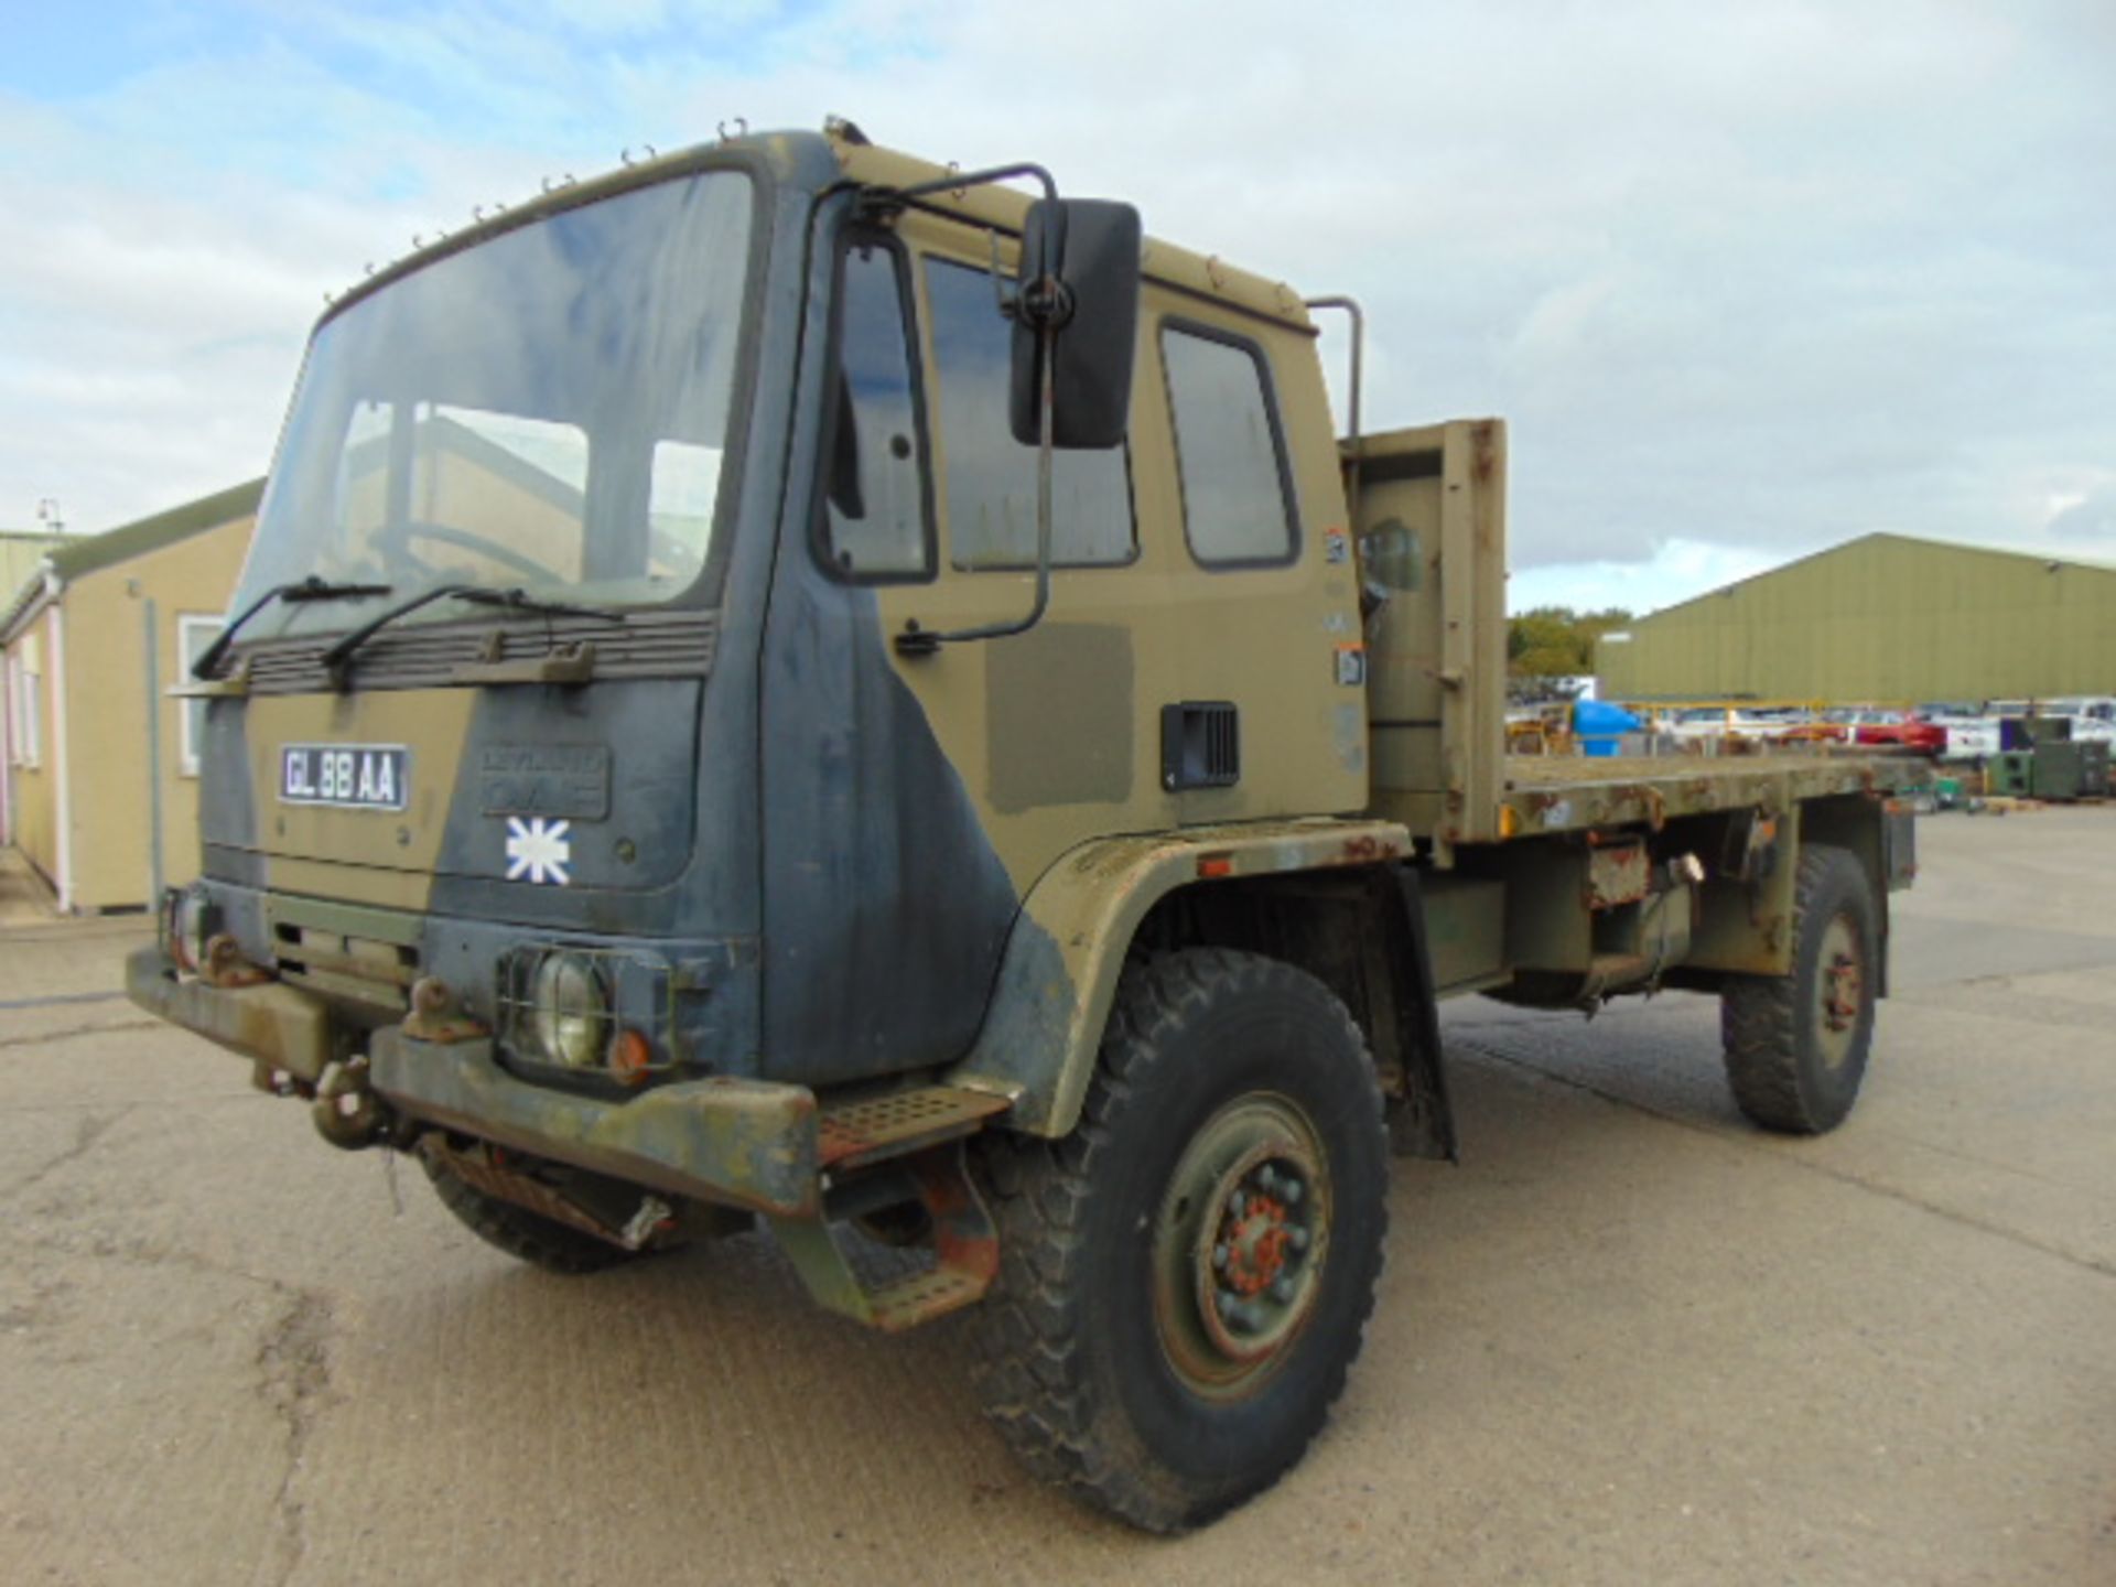
[[[1314,1316],[1329,1217],[1329,1160],[1289,1098],[1240,1096],[1191,1136],[1153,1229],[1153,1320],[1191,1390],[1240,1397],[1284,1361]]]

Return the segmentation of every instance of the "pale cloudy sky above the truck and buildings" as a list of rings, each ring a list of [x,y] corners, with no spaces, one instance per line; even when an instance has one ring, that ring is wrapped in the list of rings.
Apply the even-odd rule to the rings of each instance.
[[[324,294],[620,150],[1035,159],[1509,421],[1515,609],[2116,561],[2108,0],[0,0],[0,529],[264,472]],[[1325,339],[1333,372],[1337,332]]]

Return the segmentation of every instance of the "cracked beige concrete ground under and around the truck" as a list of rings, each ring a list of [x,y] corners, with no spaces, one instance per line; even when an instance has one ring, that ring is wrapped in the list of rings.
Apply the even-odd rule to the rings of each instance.
[[[1026,1481],[961,1320],[755,1238],[592,1280],[0,929],[4,1583],[2116,1583],[2116,808],[1936,817],[1854,1119],[1714,1005],[1449,1009],[1331,1426],[1174,1543]]]

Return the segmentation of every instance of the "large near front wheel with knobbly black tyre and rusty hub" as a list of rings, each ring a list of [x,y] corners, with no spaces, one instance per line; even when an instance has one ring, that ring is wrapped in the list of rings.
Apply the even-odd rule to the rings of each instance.
[[[1153,1532],[1270,1488],[1358,1354],[1388,1232],[1373,1062],[1318,980],[1191,948],[1124,973],[1081,1121],[988,1136],[986,1416]]]

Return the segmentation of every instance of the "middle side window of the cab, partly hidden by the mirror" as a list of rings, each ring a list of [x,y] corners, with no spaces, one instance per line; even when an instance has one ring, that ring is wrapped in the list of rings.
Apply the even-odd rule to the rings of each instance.
[[[940,377],[942,489],[948,554],[967,571],[1037,561],[1037,449],[1007,423],[1014,326],[990,271],[929,258],[933,366]],[[1119,567],[1136,554],[1132,476],[1124,446],[1052,459],[1052,565]]]

